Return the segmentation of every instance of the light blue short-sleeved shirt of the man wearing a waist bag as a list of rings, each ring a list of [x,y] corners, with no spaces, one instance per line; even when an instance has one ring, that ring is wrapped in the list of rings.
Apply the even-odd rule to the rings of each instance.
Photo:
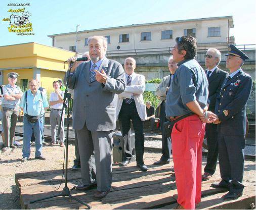
[[[25,92],[21,98],[20,107],[23,109],[23,112],[30,116],[39,116],[45,113],[45,108],[49,107],[47,101],[47,96],[45,93],[41,93],[40,90],[37,90],[35,96],[29,89],[27,91],[27,109],[25,104]]]

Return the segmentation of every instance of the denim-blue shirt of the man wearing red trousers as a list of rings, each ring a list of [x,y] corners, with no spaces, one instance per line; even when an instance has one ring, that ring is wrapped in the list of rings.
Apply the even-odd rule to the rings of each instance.
[[[194,100],[204,109],[209,94],[206,74],[195,59],[183,60],[178,66],[166,96],[167,118],[190,113],[186,103]]]

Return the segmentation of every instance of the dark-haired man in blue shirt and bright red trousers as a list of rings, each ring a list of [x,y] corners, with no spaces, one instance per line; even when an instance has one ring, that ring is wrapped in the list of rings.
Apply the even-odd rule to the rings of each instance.
[[[170,82],[165,113],[170,121],[181,118],[174,124],[171,134],[178,209],[194,209],[195,203],[201,200],[204,122],[212,115],[206,111],[208,81],[204,70],[194,59],[196,53],[197,41],[194,37],[176,38],[172,54],[179,68]],[[184,118],[188,114],[191,115]]]

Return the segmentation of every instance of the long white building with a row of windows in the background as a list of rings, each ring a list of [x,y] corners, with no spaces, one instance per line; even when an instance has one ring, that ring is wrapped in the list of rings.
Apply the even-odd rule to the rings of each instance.
[[[107,55],[137,53],[159,53],[175,44],[175,38],[182,35],[194,36],[199,47],[234,43],[230,36],[233,17],[201,18],[158,23],[136,24],[120,27],[79,31],[77,51],[88,51],[88,37],[104,35],[108,39]],[[62,49],[76,51],[76,32],[49,35],[52,45]]]

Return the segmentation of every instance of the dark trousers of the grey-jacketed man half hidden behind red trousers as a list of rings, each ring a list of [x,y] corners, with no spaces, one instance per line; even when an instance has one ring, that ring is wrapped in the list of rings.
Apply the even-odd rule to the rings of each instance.
[[[170,138],[167,138],[165,135],[165,131],[163,128],[163,123],[167,121],[165,117],[165,101],[162,101],[160,105],[160,128],[162,132],[162,156],[161,161],[169,161],[170,160],[170,148],[172,146],[172,142]]]

